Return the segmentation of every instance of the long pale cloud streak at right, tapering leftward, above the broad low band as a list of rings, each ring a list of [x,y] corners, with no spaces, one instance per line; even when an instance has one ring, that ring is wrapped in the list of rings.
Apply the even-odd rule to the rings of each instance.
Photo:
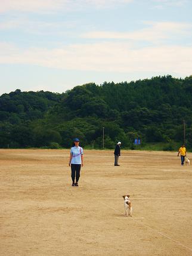
[[[176,22],[145,22],[150,27],[134,32],[95,31],[82,35],[83,38],[94,39],[132,39],[141,41],[158,41],[174,35],[191,35],[192,24]]]

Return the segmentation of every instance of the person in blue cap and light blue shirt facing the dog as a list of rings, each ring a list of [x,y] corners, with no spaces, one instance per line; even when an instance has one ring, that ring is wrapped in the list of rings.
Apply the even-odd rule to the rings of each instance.
[[[70,150],[69,166],[71,166],[72,169],[72,186],[78,187],[80,168],[83,166],[83,149],[82,147],[79,147],[78,138],[75,138],[73,142],[75,146]]]

